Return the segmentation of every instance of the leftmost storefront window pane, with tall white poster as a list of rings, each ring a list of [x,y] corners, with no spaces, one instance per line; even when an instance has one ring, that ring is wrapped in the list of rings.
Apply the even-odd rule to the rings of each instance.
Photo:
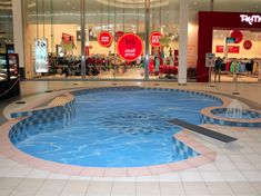
[[[74,70],[80,56],[80,1],[24,0],[24,53],[27,78],[67,78]],[[38,51],[37,41],[46,40],[47,57]],[[43,45],[46,43],[43,41]],[[39,55],[40,52],[40,55]],[[48,61],[48,71],[38,71],[37,57]],[[72,63],[73,61],[73,63]],[[69,70],[69,65],[73,70]]]

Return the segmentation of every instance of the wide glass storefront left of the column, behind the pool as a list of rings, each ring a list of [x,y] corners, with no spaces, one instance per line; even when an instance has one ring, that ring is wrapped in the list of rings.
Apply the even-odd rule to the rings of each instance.
[[[24,53],[27,78],[81,78],[81,0],[24,0]],[[86,78],[144,79],[144,0],[86,0]],[[179,0],[151,0],[151,32],[160,33],[160,47],[150,46],[149,78],[175,79],[179,53]],[[102,46],[101,32],[112,42]],[[134,60],[122,59],[118,41],[133,33],[142,40],[143,52]],[[49,71],[36,70],[36,40],[46,39]],[[177,71],[175,71],[177,70]]]

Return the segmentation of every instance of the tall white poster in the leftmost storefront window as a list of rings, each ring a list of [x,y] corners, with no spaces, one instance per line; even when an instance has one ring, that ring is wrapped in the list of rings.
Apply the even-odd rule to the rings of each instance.
[[[47,39],[36,39],[36,72],[48,72]]]

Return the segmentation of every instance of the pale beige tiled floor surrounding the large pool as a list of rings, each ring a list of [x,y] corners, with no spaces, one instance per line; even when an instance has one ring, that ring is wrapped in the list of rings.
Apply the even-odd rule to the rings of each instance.
[[[52,89],[73,88],[73,82],[52,82]],[[111,82],[79,82],[77,87],[110,86]],[[118,82],[118,86],[137,85],[137,82]],[[154,86],[154,82],[138,84],[141,86]],[[161,87],[204,90],[231,95],[232,84],[219,84],[211,88],[205,84],[188,84],[179,87],[177,84],[162,82]],[[36,96],[23,98],[30,108],[37,106],[39,99],[52,96],[44,94],[46,82],[24,82],[22,89],[27,94],[36,92]],[[240,97],[261,105],[261,84],[241,84]],[[40,92],[40,94],[39,94]],[[245,92],[248,95],[245,95]],[[57,92],[53,92],[57,94]],[[26,95],[24,95],[26,96]],[[37,104],[38,102],[38,104]],[[8,114],[16,104],[4,109]],[[253,109],[257,109],[253,108]],[[9,126],[4,125],[6,128]],[[13,156],[7,150],[7,140],[3,140],[4,130],[0,128],[0,196],[258,196],[261,195],[261,129],[243,127],[222,127],[207,125],[209,128],[235,137],[239,140],[230,146],[222,146],[190,131],[184,130],[178,137],[192,141],[194,146],[201,146],[215,153],[215,160],[209,164],[197,164],[197,167],[188,168],[185,164],[175,169],[164,170],[164,174],[141,174],[138,177],[126,175],[116,176],[118,170],[102,171],[102,175],[79,175],[84,170],[70,173],[69,169],[53,165],[52,168],[33,165],[32,159],[20,159],[20,155]],[[184,137],[189,136],[189,137]],[[4,144],[4,145],[3,145]],[[10,147],[10,146],[9,146]],[[16,151],[16,150],[14,150]],[[18,151],[18,150],[17,150]],[[18,153],[20,154],[20,153]],[[17,160],[14,160],[17,158]],[[30,161],[29,161],[30,160]],[[36,159],[34,159],[36,160]],[[193,161],[197,163],[197,161]],[[188,164],[187,164],[188,166]],[[191,164],[189,164],[191,166]],[[195,166],[195,165],[194,165]],[[184,168],[182,168],[184,167]],[[54,170],[53,168],[58,169]],[[162,168],[159,168],[161,170]],[[164,168],[165,169],[165,168]],[[149,170],[151,171],[151,170]],[[162,170],[161,170],[162,173]],[[119,175],[118,175],[119,176]],[[137,175],[134,175],[137,176]]]

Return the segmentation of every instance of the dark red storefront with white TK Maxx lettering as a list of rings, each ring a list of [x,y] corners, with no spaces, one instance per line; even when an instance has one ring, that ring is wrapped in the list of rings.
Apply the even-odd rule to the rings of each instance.
[[[237,63],[239,60],[239,62],[247,65],[247,61],[255,60],[257,62],[261,58],[261,42],[259,41],[261,28],[260,21],[257,20],[259,18],[261,18],[261,14],[250,12],[199,12],[198,81],[209,81],[209,67],[205,67],[205,53],[213,52],[222,59],[224,57],[223,62],[225,62],[225,66],[227,60],[234,60]],[[227,50],[228,52],[225,52]],[[259,61],[258,63],[261,65]],[[233,77],[231,79],[230,75],[228,75],[228,68],[230,67],[227,67],[227,74],[223,72],[223,80],[231,81]],[[254,62],[250,71],[243,72],[240,70],[241,81],[261,81],[260,70],[258,78],[255,78]]]

